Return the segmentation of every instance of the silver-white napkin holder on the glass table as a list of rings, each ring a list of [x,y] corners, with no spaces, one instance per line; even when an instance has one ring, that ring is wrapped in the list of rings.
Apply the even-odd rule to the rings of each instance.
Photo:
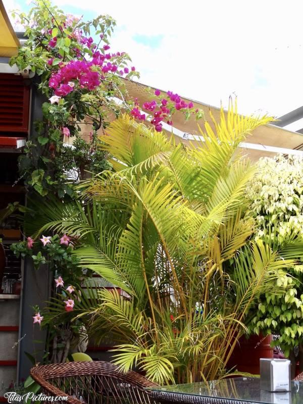
[[[290,361],[260,359],[260,387],[266,391],[290,391]]]

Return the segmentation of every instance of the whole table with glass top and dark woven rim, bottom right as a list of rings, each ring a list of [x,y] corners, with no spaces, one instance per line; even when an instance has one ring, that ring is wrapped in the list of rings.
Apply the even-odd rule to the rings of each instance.
[[[148,388],[151,397],[161,403],[188,404],[303,404],[303,383],[291,382],[290,392],[260,389],[260,379],[237,377],[210,382],[176,384]]]

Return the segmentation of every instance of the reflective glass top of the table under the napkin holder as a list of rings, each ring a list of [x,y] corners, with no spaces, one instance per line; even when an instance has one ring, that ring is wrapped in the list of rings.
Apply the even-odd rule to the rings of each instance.
[[[273,393],[261,390],[260,379],[252,377],[175,384],[172,386],[156,387],[151,390],[192,396],[228,398],[235,401],[262,404],[303,404],[303,383],[291,382],[291,391]]]

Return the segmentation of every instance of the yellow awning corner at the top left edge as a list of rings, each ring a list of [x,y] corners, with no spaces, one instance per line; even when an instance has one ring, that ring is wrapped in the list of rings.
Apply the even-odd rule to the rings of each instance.
[[[0,57],[10,58],[17,55],[19,47],[19,39],[12,27],[3,2],[0,0]]]

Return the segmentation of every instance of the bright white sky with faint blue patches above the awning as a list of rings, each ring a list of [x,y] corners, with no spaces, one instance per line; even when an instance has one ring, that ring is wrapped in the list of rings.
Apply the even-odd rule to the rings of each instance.
[[[303,104],[303,2],[298,0],[55,0],[67,13],[117,20],[112,51],[140,81],[219,106],[238,95],[243,113],[283,115]],[[28,8],[5,0],[7,9]]]

